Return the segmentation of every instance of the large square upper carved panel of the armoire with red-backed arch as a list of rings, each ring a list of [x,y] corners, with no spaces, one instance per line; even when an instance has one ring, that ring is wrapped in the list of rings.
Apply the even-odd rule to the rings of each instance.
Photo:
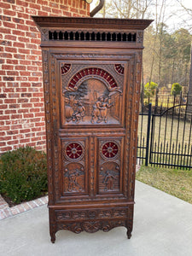
[[[126,62],[60,63],[61,125],[123,125]]]

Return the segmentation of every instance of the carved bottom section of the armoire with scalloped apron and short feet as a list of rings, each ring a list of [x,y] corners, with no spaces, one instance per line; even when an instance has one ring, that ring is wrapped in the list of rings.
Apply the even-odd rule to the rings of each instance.
[[[55,233],[59,230],[69,230],[79,234],[82,231],[95,233],[98,230],[108,232],[113,228],[124,226],[127,238],[131,238],[133,224],[133,205],[127,207],[73,208],[49,206],[50,241],[55,243]]]

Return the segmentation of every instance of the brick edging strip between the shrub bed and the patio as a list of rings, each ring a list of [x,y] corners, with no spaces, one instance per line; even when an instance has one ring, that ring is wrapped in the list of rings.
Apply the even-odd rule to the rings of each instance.
[[[9,218],[11,216],[15,216],[22,212],[30,211],[34,208],[44,206],[48,203],[48,195],[40,197],[38,199],[24,202],[15,207],[9,207],[6,201],[4,201],[3,197],[0,195],[0,220],[4,218]]]

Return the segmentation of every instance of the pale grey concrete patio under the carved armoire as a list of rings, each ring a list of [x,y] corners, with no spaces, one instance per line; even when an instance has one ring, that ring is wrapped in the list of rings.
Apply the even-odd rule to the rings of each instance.
[[[0,236],[1,255],[189,256],[192,205],[137,182],[131,240],[125,228],[119,227],[108,233],[79,235],[62,230],[52,244],[46,206],[1,220]]]

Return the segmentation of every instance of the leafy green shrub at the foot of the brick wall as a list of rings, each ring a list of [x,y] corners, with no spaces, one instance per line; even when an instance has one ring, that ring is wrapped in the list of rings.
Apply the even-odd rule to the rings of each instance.
[[[18,148],[0,158],[0,193],[15,203],[30,201],[47,191],[47,160],[44,152]]]

